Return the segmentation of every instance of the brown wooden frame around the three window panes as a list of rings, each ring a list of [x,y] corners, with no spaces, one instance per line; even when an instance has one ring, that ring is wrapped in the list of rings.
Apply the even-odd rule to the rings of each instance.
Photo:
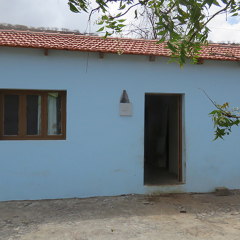
[[[62,133],[47,135],[48,93],[58,93],[62,97]],[[4,95],[19,95],[19,135],[4,135]],[[41,134],[26,133],[26,96],[41,95]],[[66,139],[66,91],[58,90],[0,90],[0,140],[65,140]]]

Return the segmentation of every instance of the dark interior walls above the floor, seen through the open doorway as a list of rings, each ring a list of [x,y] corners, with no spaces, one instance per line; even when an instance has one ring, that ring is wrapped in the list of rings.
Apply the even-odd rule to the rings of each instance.
[[[178,96],[146,94],[145,160],[178,174]]]

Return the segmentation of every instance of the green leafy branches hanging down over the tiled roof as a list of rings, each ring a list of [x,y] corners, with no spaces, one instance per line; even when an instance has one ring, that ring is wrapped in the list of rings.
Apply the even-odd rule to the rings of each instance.
[[[118,4],[115,14],[111,13],[111,3]],[[155,29],[160,36],[158,43],[168,41],[170,61],[177,61],[181,67],[187,58],[197,62],[201,46],[207,44],[207,24],[214,17],[221,13],[237,16],[240,11],[238,0],[95,0],[96,8],[88,0],[69,0],[68,4],[72,12],[88,12],[89,18],[94,12],[101,12],[98,24],[99,31],[106,32],[104,38],[122,31],[129,11],[134,11],[138,18],[139,6],[153,9],[157,18]],[[218,6],[218,11],[209,15],[212,6]]]

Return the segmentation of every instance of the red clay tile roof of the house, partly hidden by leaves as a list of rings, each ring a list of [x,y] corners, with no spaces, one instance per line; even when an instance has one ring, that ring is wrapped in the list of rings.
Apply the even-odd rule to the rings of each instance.
[[[0,30],[0,46],[104,53],[118,53],[120,50],[123,54],[169,56],[169,50],[165,48],[166,43],[156,42],[112,37],[103,40],[102,37],[88,35]],[[209,47],[202,49],[201,58],[240,61],[240,46],[209,44]]]

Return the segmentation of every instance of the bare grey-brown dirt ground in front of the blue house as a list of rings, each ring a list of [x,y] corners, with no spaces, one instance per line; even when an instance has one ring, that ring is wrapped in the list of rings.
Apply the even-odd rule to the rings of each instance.
[[[240,239],[240,191],[0,202],[0,239]]]

